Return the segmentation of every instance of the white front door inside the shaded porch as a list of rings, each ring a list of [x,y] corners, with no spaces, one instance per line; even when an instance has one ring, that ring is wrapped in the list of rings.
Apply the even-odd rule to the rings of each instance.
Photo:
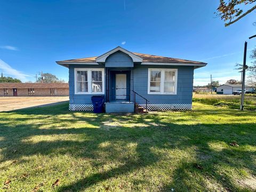
[[[126,99],[126,74],[116,74],[116,99]]]

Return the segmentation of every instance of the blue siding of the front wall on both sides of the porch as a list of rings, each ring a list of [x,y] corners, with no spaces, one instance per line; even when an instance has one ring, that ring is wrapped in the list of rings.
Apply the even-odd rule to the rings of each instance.
[[[127,59],[127,58],[126,58]],[[91,103],[93,94],[75,94],[74,68],[104,68],[103,65],[74,65],[69,67],[69,98],[71,104]],[[173,68],[178,69],[177,94],[148,94],[148,68]],[[106,70],[105,70],[106,73]],[[106,75],[106,74],[105,74]],[[149,103],[192,103],[194,68],[190,66],[153,66],[134,65],[133,86],[134,91],[147,98]],[[129,81],[127,81],[129,82]],[[105,82],[106,86],[106,82]],[[105,91],[106,91],[105,87]],[[136,102],[145,103],[145,100],[137,97]]]

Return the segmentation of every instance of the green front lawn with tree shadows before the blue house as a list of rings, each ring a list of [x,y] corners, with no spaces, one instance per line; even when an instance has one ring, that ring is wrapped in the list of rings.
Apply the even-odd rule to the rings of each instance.
[[[193,105],[142,115],[73,112],[67,103],[0,113],[0,190],[256,190],[256,111]]]

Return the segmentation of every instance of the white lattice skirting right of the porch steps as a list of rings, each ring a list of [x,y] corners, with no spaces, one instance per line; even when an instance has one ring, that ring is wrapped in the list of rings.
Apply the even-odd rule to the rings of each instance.
[[[146,104],[139,104],[146,108]],[[192,104],[148,104],[148,110],[191,110]]]

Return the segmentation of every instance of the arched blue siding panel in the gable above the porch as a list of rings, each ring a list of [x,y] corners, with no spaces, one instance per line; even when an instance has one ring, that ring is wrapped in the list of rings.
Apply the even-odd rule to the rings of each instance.
[[[110,54],[105,62],[106,67],[133,67],[132,58],[121,51]]]

